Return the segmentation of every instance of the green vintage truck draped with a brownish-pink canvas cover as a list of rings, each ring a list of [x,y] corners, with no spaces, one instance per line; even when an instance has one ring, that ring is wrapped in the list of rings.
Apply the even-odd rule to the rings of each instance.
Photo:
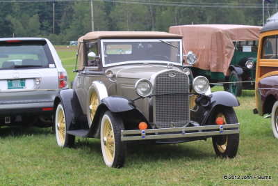
[[[211,86],[240,96],[243,89],[254,89],[256,54],[261,26],[196,24],[171,26],[170,33],[183,36],[183,52],[193,51],[197,63],[193,76],[203,75]]]

